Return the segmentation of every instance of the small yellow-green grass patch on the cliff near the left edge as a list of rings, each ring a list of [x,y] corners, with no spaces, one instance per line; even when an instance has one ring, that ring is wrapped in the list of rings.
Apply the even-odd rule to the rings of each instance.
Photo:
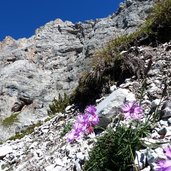
[[[2,125],[4,127],[9,127],[11,126],[12,124],[14,124],[15,122],[18,122],[18,115],[20,114],[20,112],[16,112],[16,113],[13,113],[11,114],[9,117],[5,118],[3,121],[2,121]]]

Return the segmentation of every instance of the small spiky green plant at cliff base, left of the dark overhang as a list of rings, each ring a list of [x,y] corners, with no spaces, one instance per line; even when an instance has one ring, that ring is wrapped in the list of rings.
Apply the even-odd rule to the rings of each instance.
[[[69,97],[64,93],[63,97],[59,94],[58,99],[52,101],[52,104],[49,105],[48,115],[54,115],[56,113],[63,113],[65,108],[69,105]]]

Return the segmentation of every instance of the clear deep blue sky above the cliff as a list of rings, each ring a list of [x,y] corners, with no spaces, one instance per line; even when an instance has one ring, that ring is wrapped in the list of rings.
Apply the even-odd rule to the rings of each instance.
[[[30,37],[35,29],[61,18],[72,22],[112,14],[123,0],[1,0],[0,41]]]

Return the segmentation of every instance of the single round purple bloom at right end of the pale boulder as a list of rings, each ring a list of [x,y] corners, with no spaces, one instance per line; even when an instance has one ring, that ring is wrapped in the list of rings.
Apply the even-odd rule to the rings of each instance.
[[[126,120],[140,120],[143,118],[142,108],[136,102],[127,102],[122,106],[122,112]]]

